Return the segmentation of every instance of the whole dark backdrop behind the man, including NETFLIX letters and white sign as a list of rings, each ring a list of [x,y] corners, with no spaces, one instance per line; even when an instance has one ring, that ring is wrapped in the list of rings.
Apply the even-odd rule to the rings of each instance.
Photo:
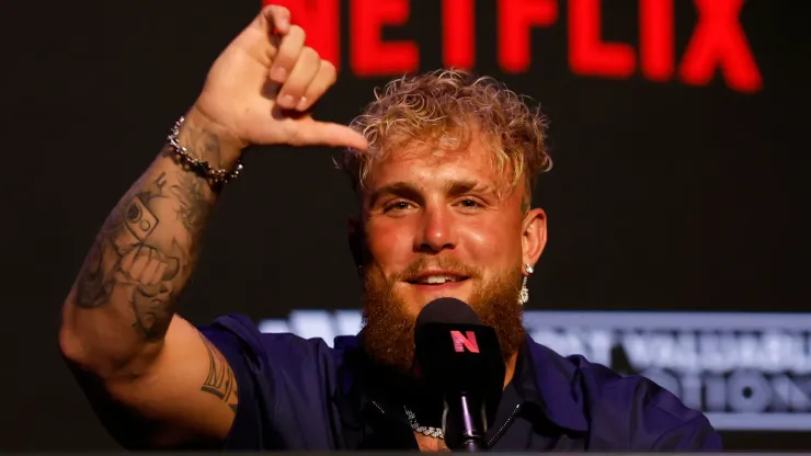
[[[470,68],[537,100],[555,169],[527,327],[642,373],[727,449],[811,451],[809,2],[279,0],[340,67],[347,123],[392,77]],[[261,0],[7,2],[0,449],[117,449],[57,350],[107,213]],[[358,329],[353,200],[328,149],[256,149],[180,312],[265,331]]]

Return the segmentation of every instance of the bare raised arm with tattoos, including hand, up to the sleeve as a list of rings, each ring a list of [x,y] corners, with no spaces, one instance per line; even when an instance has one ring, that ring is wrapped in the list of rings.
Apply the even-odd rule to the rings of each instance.
[[[305,36],[285,8],[256,15],[185,114],[179,141],[190,156],[232,169],[251,145],[366,149],[363,135],[310,116],[336,75]],[[175,314],[218,197],[164,148],[104,221],[62,306],[60,351],[128,447],[216,447],[233,422],[231,367]]]

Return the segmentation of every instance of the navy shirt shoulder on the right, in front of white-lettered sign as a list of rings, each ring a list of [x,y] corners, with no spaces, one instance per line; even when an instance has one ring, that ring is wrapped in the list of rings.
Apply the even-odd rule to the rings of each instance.
[[[686,444],[667,442],[669,438],[707,440],[707,445],[715,445],[717,434],[707,418],[649,378],[620,375],[582,355],[562,356],[535,342],[530,346],[534,358],[542,364],[535,366],[536,375],[568,386],[587,417],[593,443],[605,440],[615,444],[618,436],[625,435],[631,446],[628,449],[650,449],[663,444],[678,448]],[[692,445],[704,447],[695,442]]]

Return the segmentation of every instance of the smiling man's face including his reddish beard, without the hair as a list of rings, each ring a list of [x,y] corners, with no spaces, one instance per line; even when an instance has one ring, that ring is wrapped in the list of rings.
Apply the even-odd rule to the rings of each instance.
[[[511,190],[491,157],[478,140],[462,150],[423,145],[370,170],[363,195],[366,333],[381,361],[408,367],[413,321],[441,297],[468,303],[496,328],[502,349],[517,350],[523,340],[523,264],[540,254],[545,219],[527,210],[524,185]]]

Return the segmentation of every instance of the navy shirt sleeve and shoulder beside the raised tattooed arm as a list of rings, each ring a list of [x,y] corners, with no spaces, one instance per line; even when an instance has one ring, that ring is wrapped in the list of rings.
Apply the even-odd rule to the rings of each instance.
[[[237,414],[222,449],[330,449],[332,349],[323,340],[261,333],[248,317],[230,315],[199,329],[222,353],[237,379]]]

